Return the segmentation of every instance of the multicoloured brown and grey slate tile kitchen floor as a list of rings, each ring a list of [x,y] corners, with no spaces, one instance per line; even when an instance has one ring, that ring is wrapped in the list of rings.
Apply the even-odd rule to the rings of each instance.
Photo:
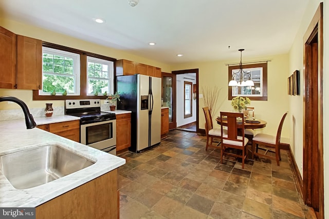
[[[172,130],[140,154],[126,152],[119,168],[120,218],[316,218],[296,189],[291,162],[249,160],[242,169],[205,137]]]

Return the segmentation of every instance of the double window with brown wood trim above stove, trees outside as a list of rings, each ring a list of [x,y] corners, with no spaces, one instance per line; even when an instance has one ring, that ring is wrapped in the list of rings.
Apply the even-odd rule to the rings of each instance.
[[[108,95],[115,90],[115,61],[115,58],[43,42],[42,89],[33,90],[33,100],[106,98],[105,91]],[[56,95],[51,95],[55,92]]]

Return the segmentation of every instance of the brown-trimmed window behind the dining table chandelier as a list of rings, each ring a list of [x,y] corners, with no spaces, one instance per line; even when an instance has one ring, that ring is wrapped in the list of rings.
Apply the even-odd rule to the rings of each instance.
[[[267,101],[267,63],[243,65],[243,70],[250,73],[254,86],[228,86],[228,99],[235,96],[247,96],[253,101]],[[228,79],[231,81],[232,75],[239,72],[239,66],[228,67]],[[239,75],[234,78],[239,82]]]

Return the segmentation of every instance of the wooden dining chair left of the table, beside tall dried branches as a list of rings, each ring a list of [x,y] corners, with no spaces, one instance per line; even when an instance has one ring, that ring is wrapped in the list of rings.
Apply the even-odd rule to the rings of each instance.
[[[221,134],[221,129],[214,129],[212,126],[212,117],[211,117],[211,112],[209,107],[204,107],[202,108],[205,113],[205,118],[206,118],[206,124],[205,124],[205,129],[206,129],[206,136],[207,136],[207,144],[206,144],[206,150],[208,150],[208,147],[213,147],[213,148],[218,148],[218,145],[221,144],[219,142],[217,145],[212,145],[213,144],[213,139],[218,138],[220,139],[222,134]],[[224,131],[224,133],[227,133]],[[210,144],[209,144],[210,140]]]

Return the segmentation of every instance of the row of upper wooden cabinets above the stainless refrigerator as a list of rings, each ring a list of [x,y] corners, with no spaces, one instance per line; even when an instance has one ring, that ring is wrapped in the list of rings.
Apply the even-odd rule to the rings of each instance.
[[[119,59],[116,61],[116,75],[132,75],[143,74],[153,77],[161,77],[161,68],[136,63],[126,59]]]

